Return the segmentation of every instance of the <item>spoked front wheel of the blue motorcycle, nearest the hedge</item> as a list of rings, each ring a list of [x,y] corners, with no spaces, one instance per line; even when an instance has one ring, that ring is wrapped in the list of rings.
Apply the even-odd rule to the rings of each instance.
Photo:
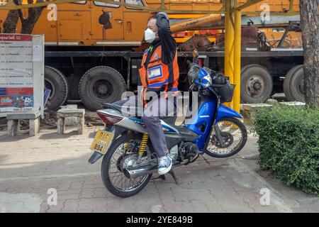
[[[223,138],[223,145],[217,139],[215,129],[212,130],[205,153],[212,157],[230,157],[242,150],[247,142],[247,129],[237,118],[221,118],[218,121]]]

